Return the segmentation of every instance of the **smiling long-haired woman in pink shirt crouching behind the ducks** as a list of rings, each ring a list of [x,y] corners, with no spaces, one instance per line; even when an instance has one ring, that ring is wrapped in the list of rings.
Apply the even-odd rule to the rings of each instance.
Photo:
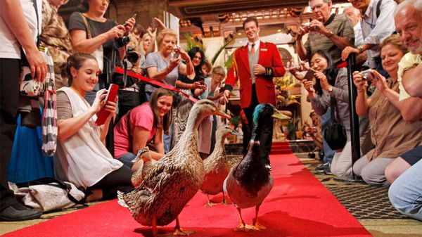
[[[136,171],[141,160],[132,163],[135,154],[139,149],[152,145],[151,157],[160,160],[164,156],[162,137],[169,131],[172,122],[169,112],[173,101],[173,92],[160,88],[153,92],[149,102],[129,110],[115,126],[115,157]]]

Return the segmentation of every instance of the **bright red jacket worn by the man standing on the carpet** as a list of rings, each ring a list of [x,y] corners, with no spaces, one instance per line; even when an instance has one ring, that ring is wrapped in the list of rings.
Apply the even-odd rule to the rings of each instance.
[[[276,105],[276,89],[273,77],[283,76],[285,70],[279,50],[275,44],[261,41],[258,64],[264,68],[272,68],[274,72],[272,75],[255,76],[258,102]],[[237,79],[240,80],[241,108],[248,108],[252,98],[252,77],[250,77],[248,45],[242,46],[234,52],[233,62],[227,73],[226,85],[234,87]]]

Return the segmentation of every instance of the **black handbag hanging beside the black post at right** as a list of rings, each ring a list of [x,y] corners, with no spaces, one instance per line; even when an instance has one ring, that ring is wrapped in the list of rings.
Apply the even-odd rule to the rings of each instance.
[[[338,122],[340,121],[340,118],[338,118],[338,120],[335,120],[335,110],[337,106],[335,105],[335,98],[333,96],[331,96],[330,98],[330,104],[331,119],[330,124],[328,124],[324,132],[324,139],[332,150],[343,149],[347,143],[347,134],[343,124]]]

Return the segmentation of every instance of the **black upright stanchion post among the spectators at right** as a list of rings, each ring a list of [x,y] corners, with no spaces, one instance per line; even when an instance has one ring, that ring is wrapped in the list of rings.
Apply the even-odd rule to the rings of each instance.
[[[357,88],[353,83],[354,65],[356,54],[350,54],[347,58],[347,84],[349,85],[349,110],[350,110],[350,139],[352,143],[352,174],[347,177],[335,177],[335,181],[360,182],[362,179],[356,177],[353,172],[354,162],[360,158],[360,135],[359,135],[359,116],[356,113]]]

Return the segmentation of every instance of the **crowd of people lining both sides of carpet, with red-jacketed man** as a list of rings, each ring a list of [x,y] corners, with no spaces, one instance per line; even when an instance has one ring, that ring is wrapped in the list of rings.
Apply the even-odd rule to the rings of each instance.
[[[44,82],[46,77],[47,65],[37,41],[54,60],[58,145],[52,169],[56,178],[84,188],[87,202],[115,198],[117,190],[129,191],[133,188],[132,173],[143,162],[132,162],[137,151],[148,146],[151,157],[159,160],[184,132],[193,101],[170,89],[146,84],[138,76],[179,89],[190,98],[207,98],[218,107],[228,101],[239,79],[244,144],[250,139],[249,124],[255,105],[274,103],[272,78],[283,75],[285,68],[276,46],[260,40],[256,18],[243,23],[248,45],[234,53],[235,58],[245,57],[244,62],[248,63],[235,61],[224,85],[226,70],[213,67],[198,47],[188,52],[178,47],[176,32],[167,29],[158,18],[146,30],[136,24],[136,17],[119,24],[105,17],[109,1],[85,0],[82,4],[87,11],[72,13],[66,27],[58,8],[67,2],[1,1],[2,221],[41,215],[15,199],[6,177],[13,143],[20,142],[14,134],[16,119],[20,118],[18,88],[23,58],[34,80]],[[298,56],[309,63],[307,70],[312,71],[312,78],[286,68],[304,85],[313,109],[312,129],[308,126],[305,132],[324,151],[324,163],[317,170],[338,177],[354,173],[367,184],[391,185],[392,205],[403,214],[422,220],[422,4],[417,0],[399,5],[393,0],[350,3],[353,7],[336,14],[332,13],[331,0],[309,1],[313,20],[298,27],[295,40]],[[122,44],[127,36],[131,36],[129,44]],[[345,63],[351,53],[357,55],[358,65],[353,72],[353,85],[347,82]],[[116,65],[136,77],[115,77]],[[366,68],[371,70],[364,75],[360,71]],[[108,86],[117,79],[122,82],[120,99],[106,101]],[[369,90],[371,85],[375,91]],[[354,165],[350,86],[358,91],[354,106],[362,143],[361,158]],[[97,125],[100,110],[106,110],[108,117],[104,124]],[[345,146],[335,150],[324,139],[324,130],[333,120],[343,124],[347,136]],[[220,122],[210,116],[200,124],[198,148],[203,158],[212,153]],[[271,170],[272,120],[266,125],[260,138],[260,155]]]

